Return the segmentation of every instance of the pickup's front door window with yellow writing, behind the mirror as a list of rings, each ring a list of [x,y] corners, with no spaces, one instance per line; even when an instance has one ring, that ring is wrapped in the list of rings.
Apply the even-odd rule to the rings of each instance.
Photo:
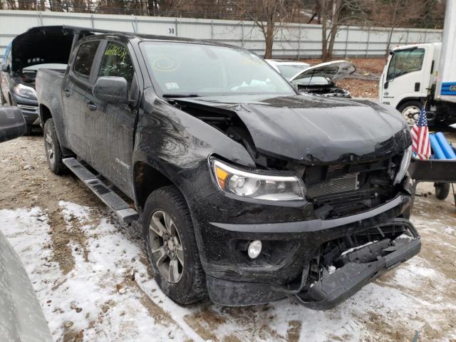
[[[105,52],[103,53],[98,77],[123,77],[127,80],[128,86],[131,86],[134,74],[135,68],[131,62],[128,49],[119,43],[108,42]]]

